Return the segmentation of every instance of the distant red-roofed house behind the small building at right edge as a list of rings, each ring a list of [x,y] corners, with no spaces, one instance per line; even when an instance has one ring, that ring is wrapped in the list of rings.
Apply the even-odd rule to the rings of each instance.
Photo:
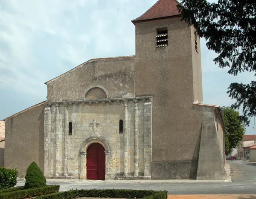
[[[241,144],[237,148],[236,159],[243,159],[246,154],[249,154],[249,148],[247,148],[246,146],[249,146],[249,145],[252,146],[252,144],[254,143],[256,143],[256,135],[244,135],[244,138]]]

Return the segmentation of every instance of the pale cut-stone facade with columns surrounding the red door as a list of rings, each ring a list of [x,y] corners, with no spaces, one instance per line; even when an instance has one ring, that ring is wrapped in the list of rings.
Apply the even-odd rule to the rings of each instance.
[[[49,103],[45,108],[45,176],[86,179],[87,141],[105,147],[106,179],[151,175],[150,97]],[[72,135],[68,135],[69,122]]]

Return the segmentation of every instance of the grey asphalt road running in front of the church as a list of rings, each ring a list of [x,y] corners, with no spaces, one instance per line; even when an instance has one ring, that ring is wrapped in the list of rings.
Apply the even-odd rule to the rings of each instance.
[[[256,163],[235,160],[228,162],[231,167],[232,182],[194,182],[194,183],[105,183],[85,182],[47,182],[60,185],[60,191],[70,189],[153,189],[167,190],[168,194],[256,194]],[[19,181],[17,186],[22,186]]]

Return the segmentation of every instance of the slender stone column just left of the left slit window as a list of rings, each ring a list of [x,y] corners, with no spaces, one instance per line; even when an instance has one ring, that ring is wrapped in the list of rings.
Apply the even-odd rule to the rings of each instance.
[[[65,105],[65,130],[64,130],[64,176],[68,176],[68,168],[67,168],[67,159],[68,159],[68,128],[69,128],[69,122],[68,122],[68,105],[67,103],[64,103]]]

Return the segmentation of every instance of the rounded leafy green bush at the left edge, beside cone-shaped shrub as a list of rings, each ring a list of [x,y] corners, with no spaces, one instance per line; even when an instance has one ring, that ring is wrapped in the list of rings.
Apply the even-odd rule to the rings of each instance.
[[[0,167],[0,189],[14,187],[17,183],[17,173],[16,169]]]

